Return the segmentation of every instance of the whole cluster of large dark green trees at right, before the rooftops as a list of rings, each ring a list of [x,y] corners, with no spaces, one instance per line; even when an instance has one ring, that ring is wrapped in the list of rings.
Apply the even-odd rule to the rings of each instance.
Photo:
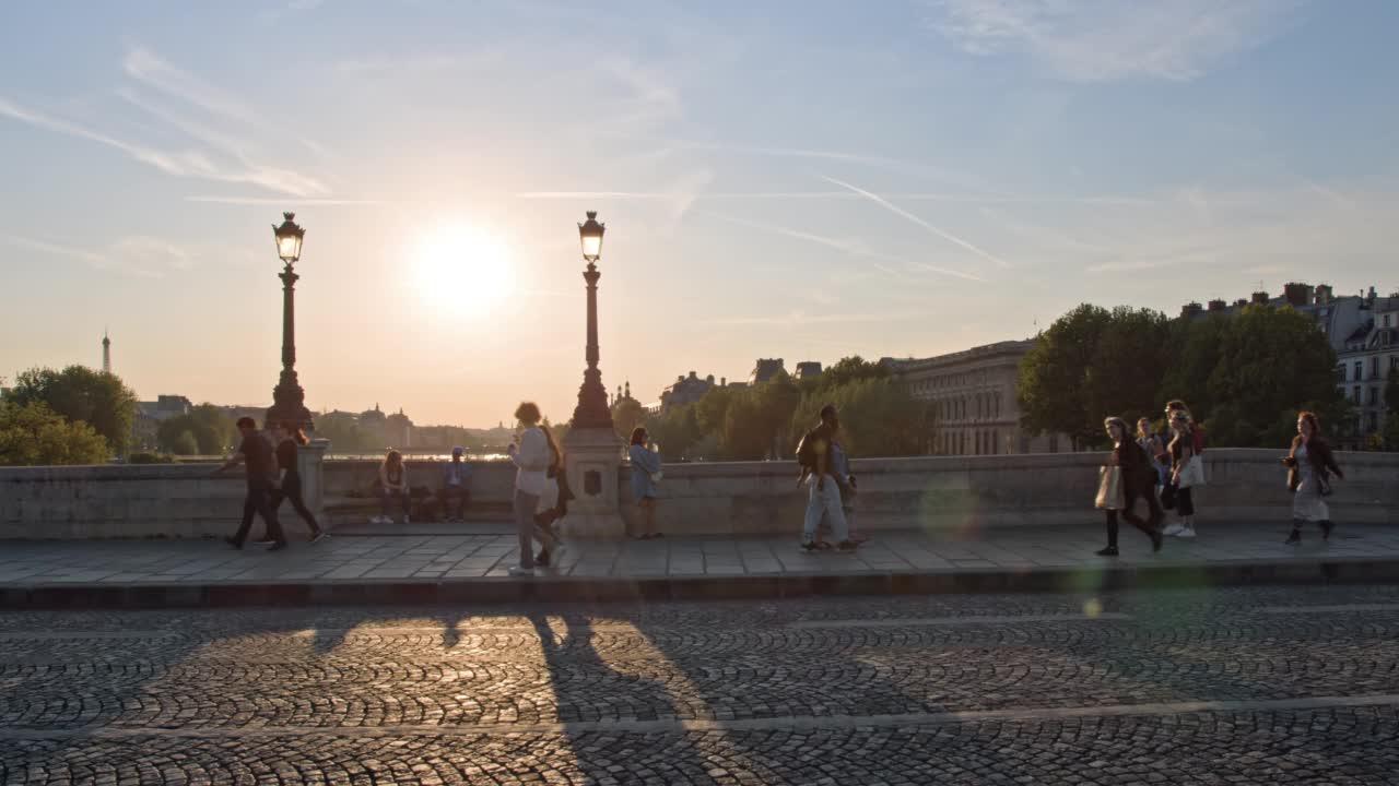
[[[1297,411],[1332,432],[1353,428],[1326,334],[1290,306],[1168,319],[1150,309],[1081,305],[1059,317],[1020,364],[1021,425],[1066,434],[1077,449],[1102,448],[1105,415],[1150,417],[1184,399],[1212,445],[1286,445]],[[1391,389],[1396,379],[1392,376]],[[1399,404],[1399,392],[1389,408]],[[1391,428],[1399,418],[1389,418]],[[1399,446],[1399,441],[1391,445]]]

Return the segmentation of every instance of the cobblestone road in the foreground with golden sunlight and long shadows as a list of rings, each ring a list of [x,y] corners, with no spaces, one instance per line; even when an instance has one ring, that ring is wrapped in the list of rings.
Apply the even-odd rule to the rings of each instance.
[[[4,783],[1399,783],[1399,587],[0,613]]]

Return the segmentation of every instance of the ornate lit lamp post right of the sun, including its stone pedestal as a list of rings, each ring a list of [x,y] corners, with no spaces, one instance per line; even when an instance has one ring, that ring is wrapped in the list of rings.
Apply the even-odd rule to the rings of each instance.
[[[583,372],[583,385],[578,389],[572,428],[564,438],[568,446],[564,450],[568,484],[581,491],[568,508],[568,516],[560,522],[561,531],[568,537],[614,538],[627,531],[617,510],[621,439],[613,429],[603,372],[597,369],[597,280],[603,276],[597,270],[597,260],[603,255],[606,229],[592,210],[588,211],[588,221],[578,225],[583,260],[588,262],[588,269],[583,270],[583,281],[588,283],[588,369]]]

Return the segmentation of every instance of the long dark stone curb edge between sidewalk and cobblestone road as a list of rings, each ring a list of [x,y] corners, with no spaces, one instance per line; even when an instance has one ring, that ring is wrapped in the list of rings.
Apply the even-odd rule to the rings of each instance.
[[[1399,559],[1214,562],[1095,569],[246,582],[0,585],[0,608],[192,608],[236,606],[432,606],[781,599],[838,594],[1108,592],[1238,585],[1399,583]]]

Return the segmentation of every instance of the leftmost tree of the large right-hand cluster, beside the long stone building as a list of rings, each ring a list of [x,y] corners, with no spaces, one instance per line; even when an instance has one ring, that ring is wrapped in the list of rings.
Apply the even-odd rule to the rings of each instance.
[[[1083,394],[1094,354],[1112,315],[1100,306],[1080,305],[1045,330],[1020,361],[1021,427],[1031,434],[1067,434],[1074,448],[1102,438],[1104,413],[1090,411]]]

